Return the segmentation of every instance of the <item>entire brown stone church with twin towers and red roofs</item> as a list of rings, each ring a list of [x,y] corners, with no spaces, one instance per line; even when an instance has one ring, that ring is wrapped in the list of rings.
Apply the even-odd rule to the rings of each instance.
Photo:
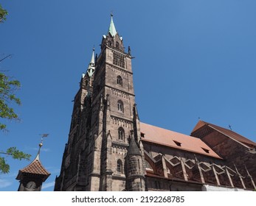
[[[256,143],[198,121],[184,135],[139,121],[131,49],[113,17],[80,79],[55,191],[255,190]]]

